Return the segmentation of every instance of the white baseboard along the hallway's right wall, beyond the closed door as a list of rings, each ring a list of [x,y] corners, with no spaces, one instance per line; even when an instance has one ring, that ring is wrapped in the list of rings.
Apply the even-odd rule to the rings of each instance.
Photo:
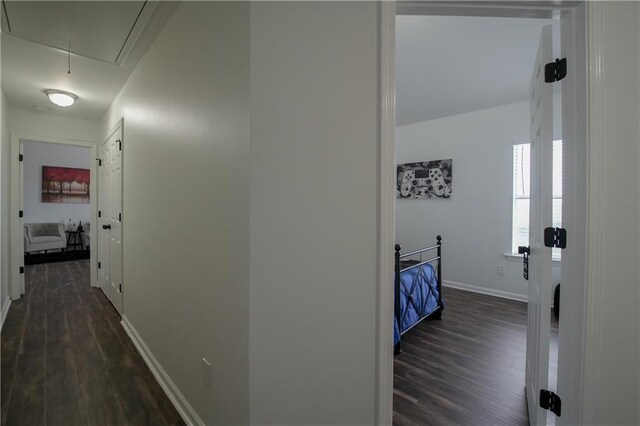
[[[144,362],[153,373],[153,376],[156,378],[158,383],[160,383],[164,393],[167,394],[167,397],[171,400],[171,403],[180,414],[180,417],[182,417],[182,420],[184,420],[184,422],[189,426],[204,425],[202,419],[200,419],[196,411],[189,404],[184,395],[182,395],[182,392],[180,392],[175,383],[173,383],[171,377],[169,377],[167,372],[164,371],[158,360],[149,350],[149,347],[144,343],[144,340],[142,340],[136,329],[133,328],[133,325],[124,315],[122,316],[121,324],[133,341],[133,344],[138,349],[138,352],[140,352],[140,355],[142,355],[142,359],[144,359]]]

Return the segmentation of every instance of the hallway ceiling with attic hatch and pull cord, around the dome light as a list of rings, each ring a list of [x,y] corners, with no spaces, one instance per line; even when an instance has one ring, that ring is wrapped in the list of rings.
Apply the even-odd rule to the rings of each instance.
[[[3,3],[2,91],[9,105],[89,120],[102,118],[175,8],[149,1]],[[57,107],[45,89],[75,93],[78,101]]]

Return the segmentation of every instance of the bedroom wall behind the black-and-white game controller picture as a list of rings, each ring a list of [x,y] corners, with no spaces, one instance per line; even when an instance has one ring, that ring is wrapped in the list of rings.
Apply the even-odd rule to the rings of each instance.
[[[511,252],[512,146],[528,140],[528,101],[396,129],[397,163],[453,159],[451,199],[396,200],[403,251],[443,236],[444,285],[526,300],[522,260],[505,253]],[[554,262],[553,280],[559,279]]]

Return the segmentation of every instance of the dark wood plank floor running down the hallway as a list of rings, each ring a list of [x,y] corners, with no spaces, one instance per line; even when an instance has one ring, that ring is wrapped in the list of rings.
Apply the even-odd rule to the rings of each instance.
[[[26,289],[2,329],[3,425],[183,424],[88,260],[27,266]]]

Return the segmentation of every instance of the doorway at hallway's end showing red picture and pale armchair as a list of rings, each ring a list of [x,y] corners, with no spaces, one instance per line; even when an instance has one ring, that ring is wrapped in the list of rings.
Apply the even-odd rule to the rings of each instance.
[[[96,217],[91,187],[96,145],[12,134],[11,152],[11,299],[25,294],[25,260],[59,261],[88,254],[90,285],[96,286],[96,255],[90,250],[96,241],[91,227]]]

